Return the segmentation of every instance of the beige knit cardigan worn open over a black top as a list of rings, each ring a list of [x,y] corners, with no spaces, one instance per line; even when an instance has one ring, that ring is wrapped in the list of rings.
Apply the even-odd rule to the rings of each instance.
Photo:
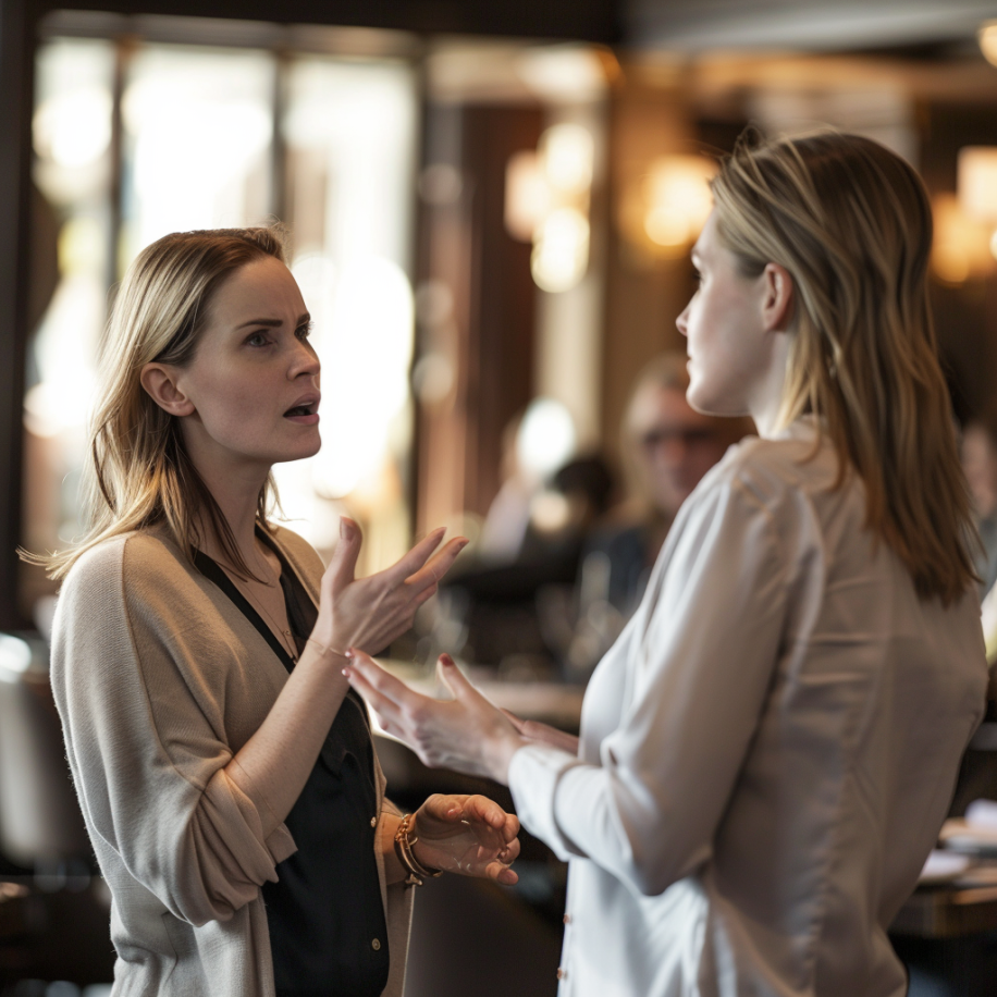
[[[318,603],[322,563],[290,530],[274,540]],[[90,840],[111,890],[114,997],[272,997],[261,885],[295,851],[267,800],[225,765],[287,679],[266,640],[162,529],[87,552],[59,599],[51,680]],[[384,800],[377,767],[379,812]],[[243,787],[251,784],[239,779]],[[386,886],[401,997],[411,891]]]

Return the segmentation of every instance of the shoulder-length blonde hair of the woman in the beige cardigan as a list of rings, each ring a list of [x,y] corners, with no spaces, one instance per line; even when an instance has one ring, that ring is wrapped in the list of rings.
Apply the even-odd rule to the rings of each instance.
[[[143,249],[121,283],[103,344],[83,476],[86,532],[67,551],[22,552],[25,559],[62,578],[102,541],[158,524],[167,525],[193,559],[199,530],[207,526],[236,571],[254,577],[187,455],[179,420],[152,401],[139,377],[152,361],[187,366],[221,285],[255,260],[284,262],[284,233],[276,226],[175,232]],[[268,476],[257,500],[264,528],[274,495]]]

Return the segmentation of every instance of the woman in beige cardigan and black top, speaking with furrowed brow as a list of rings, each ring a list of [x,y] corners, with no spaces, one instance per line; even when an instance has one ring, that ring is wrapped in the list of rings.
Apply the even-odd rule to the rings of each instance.
[[[268,229],[165,236],[115,301],[64,577],[52,687],[113,897],[115,995],[402,993],[411,890],[514,883],[518,823],[482,797],[384,800],[342,651],[386,647],[463,540],[354,578],[267,512],[315,454],[319,361]],[[372,399],[372,404],[376,401]],[[362,418],[362,414],[357,414]]]

